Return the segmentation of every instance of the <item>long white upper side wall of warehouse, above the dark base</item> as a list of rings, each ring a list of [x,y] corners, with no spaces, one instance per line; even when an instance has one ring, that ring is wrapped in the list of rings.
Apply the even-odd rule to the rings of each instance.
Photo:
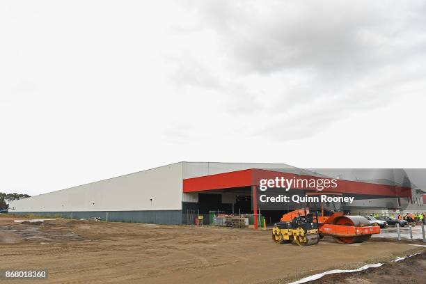
[[[182,163],[15,200],[9,212],[182,210]]]

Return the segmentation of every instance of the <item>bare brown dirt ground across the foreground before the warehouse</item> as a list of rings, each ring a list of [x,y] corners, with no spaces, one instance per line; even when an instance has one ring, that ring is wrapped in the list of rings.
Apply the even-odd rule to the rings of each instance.
[[[0,269],[49,271],[48,280],[22,283],[289,283],[425,251],[410,244],[324,238],[299,247],[274,244],[262,230],[65,219],[32,225],[0,216]]]

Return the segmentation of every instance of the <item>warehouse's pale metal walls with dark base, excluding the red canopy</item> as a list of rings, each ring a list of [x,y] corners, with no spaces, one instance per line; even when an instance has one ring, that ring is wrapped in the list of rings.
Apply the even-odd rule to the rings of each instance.
[[[287,164],[179,162],[10,202],[11,214],[65,218],[100,216],[109,221],[182,223],[183,180],[248,168],[294,168]],[[232,198],[230,198],[232,199]],[[231,201],[232,203],[232,201]],[[180,212],[180,213],[177,213]]]

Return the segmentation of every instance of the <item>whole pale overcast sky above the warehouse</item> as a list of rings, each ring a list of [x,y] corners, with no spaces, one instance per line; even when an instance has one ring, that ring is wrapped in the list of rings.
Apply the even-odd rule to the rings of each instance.
[[[0,1],[0,191],[176,161],[425,168],[425,1]]]

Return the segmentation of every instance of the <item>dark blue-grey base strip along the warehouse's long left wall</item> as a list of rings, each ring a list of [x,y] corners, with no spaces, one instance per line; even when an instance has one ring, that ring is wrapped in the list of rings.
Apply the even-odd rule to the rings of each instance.
[[[182,210],[159,211],[80,211],[80,212],[9,212],[16,215],[38,215],[62,217],[67,219],[87,219],[100,217],[102,221],[153,223],[153,224],[182,224]]]

